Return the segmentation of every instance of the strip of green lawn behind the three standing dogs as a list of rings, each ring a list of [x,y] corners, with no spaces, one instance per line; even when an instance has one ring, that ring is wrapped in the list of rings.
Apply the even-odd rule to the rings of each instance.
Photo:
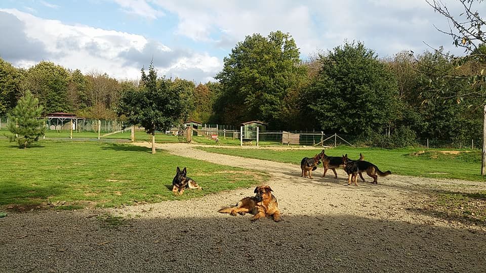
[[[248,158],[271,160],[277,162],[293,163],[300,165],[303,157],[311,157],[320,153],[315,150],[270,150],[270,149],[238,149],[198,147],[198,149],[234,155]],[[412,175],[434,178],[458,178],[473,181],[486,181],[486,177],[480,175],[481,152],[474,150],[458,155],[443,154],[440,150],[426,150],[420,148],[386,150],[378,148],[351,148],[338,146],[326,149],[328,156],[342,156],[348,154],[351,159],[357,159],[359,153],[363,153],[365,160],[377,165],[380,170],[390,170],[394,174]],[[319,172],[322,167],[318,168]],[[316,170],[317,171],[317,170]]]

